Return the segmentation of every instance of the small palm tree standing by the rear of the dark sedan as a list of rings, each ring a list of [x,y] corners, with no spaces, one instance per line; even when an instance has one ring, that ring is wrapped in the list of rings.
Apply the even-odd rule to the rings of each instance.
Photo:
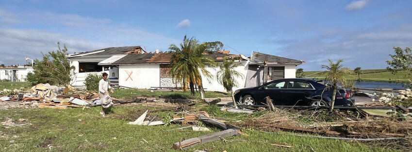
[[[330,103],[330,111],[333,110],[333,105],[335,104],[336,98],[336,91],[338,90],[338,84],[345,84],[346,79],[344,78],[345,75],[350,74],[350,70],[348,68],[343,68],[341,65],[343,61],[339,59],[336,63],[333,63],[332,60],[329,59],[329,66],[322,65],[322,68],[326,68],[325,71],[326,80],[330,81],[332,84],[333,93],[332,93],[332,102]]]

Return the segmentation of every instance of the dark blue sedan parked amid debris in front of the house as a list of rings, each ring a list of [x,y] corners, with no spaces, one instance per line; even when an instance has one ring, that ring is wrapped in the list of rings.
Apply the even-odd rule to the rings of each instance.
[[[237,103],[245,105],[262,105],[267,96],[274,105],[310,105],[329,106],[332,101],[333,88],[311,79],[280,79],[253,88],[236,90],[234,98]],[[335,106],[349,106],[354,102],[351,91],[339,88],[336,93]]]

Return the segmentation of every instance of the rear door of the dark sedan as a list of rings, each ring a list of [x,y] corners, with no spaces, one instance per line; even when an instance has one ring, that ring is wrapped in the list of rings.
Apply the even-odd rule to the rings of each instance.
[[[289,81],[283,90],[284,105],[306,105],[307,97],[315,92],[313,86],[303,81]]]

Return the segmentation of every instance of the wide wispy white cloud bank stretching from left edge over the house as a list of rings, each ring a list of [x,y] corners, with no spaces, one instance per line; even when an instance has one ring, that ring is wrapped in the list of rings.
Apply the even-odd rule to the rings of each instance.
[[[66,44],[69,53],[135,45],[148,51],[157,48],[166,51],[170,44],[180,42],[105,18],[31,10],[18,13],[0,11],[0,23],[1,17],[7,15],[25,21],[15,22],[16,25],[29,27],[17,29],[0,25],[0,54],[10,57],[0,59],[0,63],[5,65],[24,64],[25,56],[40,59],[41,52],[55,51],[57,42],[62,46]]]

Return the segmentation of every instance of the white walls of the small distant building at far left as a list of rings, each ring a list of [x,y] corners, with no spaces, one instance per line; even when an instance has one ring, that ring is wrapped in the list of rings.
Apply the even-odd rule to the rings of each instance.
[[[9,74],[6,75],[6,70],[9,71]],[[0,68],[0,80],[4,80],[7,79],[9,81],[12,81],[12,74],[13,74],[13,70],[16,70],[16,81],[17,82],[24,82],[26,77],[27,77],[27,73],[29,72],[33,72],[33,68]]]

